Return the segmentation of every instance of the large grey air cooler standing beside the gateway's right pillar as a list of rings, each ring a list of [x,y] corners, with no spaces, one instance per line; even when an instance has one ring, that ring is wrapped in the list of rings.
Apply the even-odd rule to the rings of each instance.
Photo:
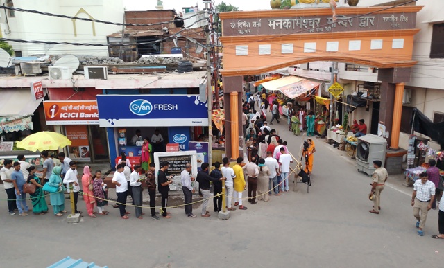
[[[367,134],[358,138],[356,145],[356,166],[358,171],[364,171],[368,175],[372,175],[375,168],[373,167],[373,161],[379,160],[384,166],[386,160],[386,139]]]

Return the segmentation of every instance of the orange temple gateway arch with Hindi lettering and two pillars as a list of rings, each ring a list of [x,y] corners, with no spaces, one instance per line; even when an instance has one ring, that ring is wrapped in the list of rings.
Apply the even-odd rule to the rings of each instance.
[[[382,120],[398,149],[404,82],[410,81],[416,14],[422,6],[222,12],[227,155],[239,157],[242,75],[337,61],[379,68]]]

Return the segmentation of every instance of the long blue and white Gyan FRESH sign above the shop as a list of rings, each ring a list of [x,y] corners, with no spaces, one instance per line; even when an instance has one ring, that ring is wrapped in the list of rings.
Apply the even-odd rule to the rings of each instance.
[[[198,95],[97,95],[101,127],[208,126]]]

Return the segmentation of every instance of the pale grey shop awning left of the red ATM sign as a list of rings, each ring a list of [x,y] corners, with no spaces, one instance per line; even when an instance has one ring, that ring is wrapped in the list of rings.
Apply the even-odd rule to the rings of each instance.
[[[43,98],[34,100],[30,89],[3,89],[0,90],[0,94],[0,116],[33,114],[43,100]]]

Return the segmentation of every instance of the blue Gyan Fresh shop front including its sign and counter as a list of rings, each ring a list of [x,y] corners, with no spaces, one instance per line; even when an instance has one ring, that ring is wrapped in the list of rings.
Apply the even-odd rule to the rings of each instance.
[[[121,152],[131,163],[140,161],[142,142],[148,139],[153,152],[189,150],[189,142],[207,133],[207,102],[198,95],[97,95],[99,125],[106,127],[111,168]],[[170,146],[177,144],[178,146]]]

